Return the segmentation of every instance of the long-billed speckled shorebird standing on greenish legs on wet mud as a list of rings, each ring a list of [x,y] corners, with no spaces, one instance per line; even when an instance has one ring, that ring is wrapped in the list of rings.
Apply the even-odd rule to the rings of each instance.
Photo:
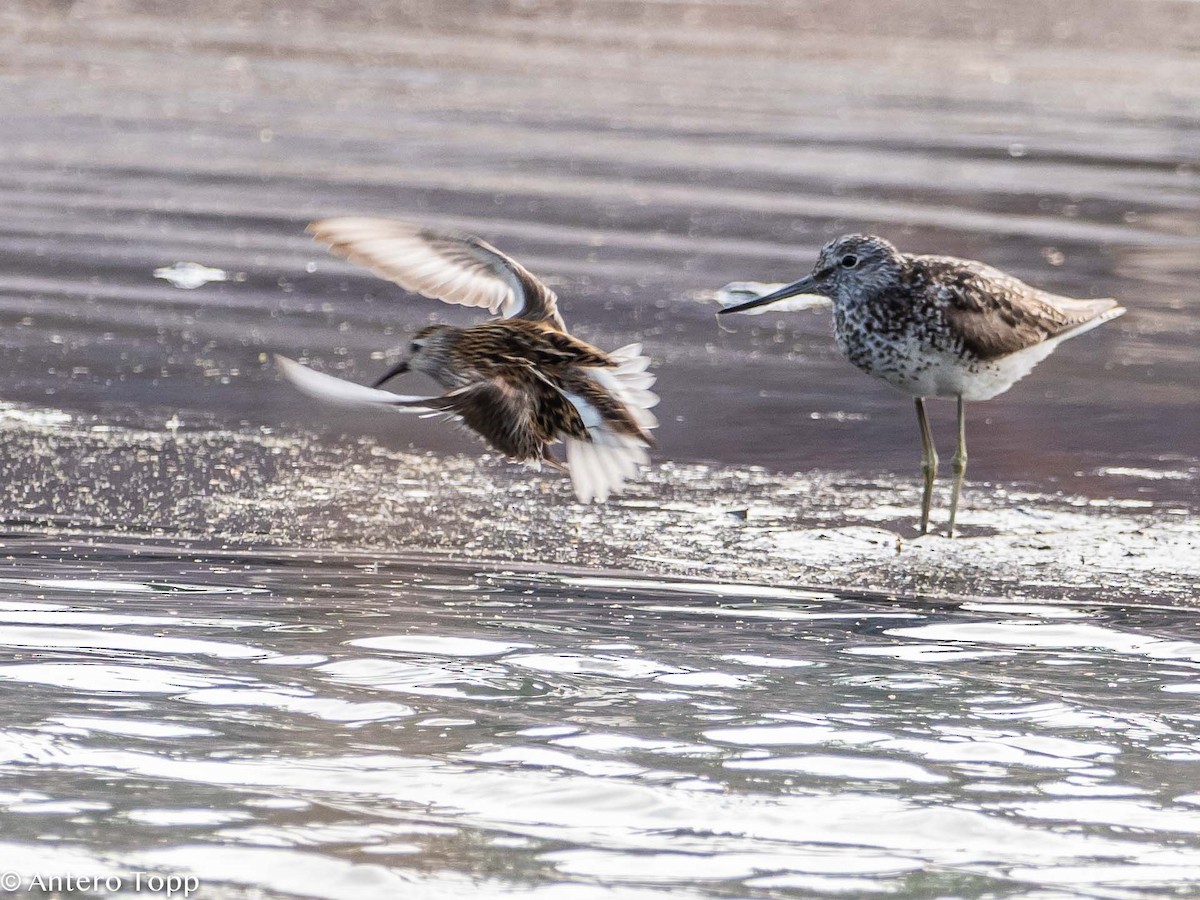
[[[953,397],[958,402],[950,536],[967,469],[964,403],[1003,394],[1060,343],[1124,312],[1116,300],[1049,294],[990,265],[901,253],[869,234],[829,241],[811,275],[721,312],[743,312],[800,295],[811,295],[812,306],[833,305],[834,338],[846,359],[916,398],[925,479],[922,534],[929,532],[937,476],[925,400]]]

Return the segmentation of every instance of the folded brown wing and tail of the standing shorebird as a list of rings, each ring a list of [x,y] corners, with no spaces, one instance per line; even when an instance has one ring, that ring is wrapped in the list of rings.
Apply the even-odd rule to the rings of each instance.
[[[1054,338],[1066,340],[1124,312],[1116,300],[1075,300],[1032,288],[990,265],[919,257],[938,286],[948,324],[979,360],[998,359]]]

